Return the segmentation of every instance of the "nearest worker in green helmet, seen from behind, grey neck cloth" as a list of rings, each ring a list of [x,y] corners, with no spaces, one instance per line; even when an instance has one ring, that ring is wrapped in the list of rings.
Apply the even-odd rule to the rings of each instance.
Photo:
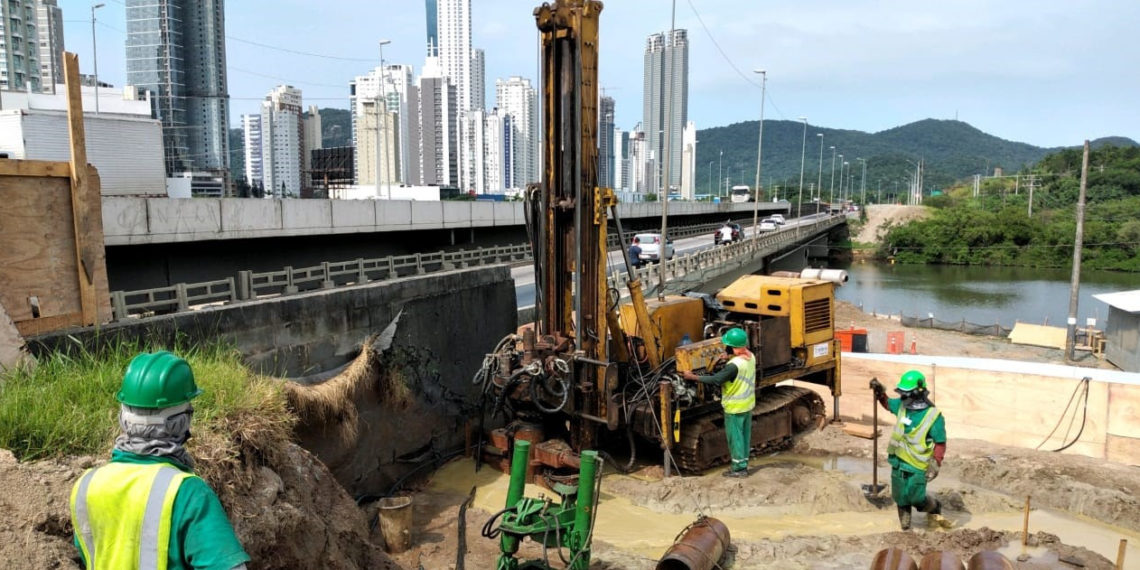
[[[201,393],[190,365],[170,352],[138,355],[127,367],[111,462],[87,470],[71,494],[89,570],[245,569],[250,556],[185,447]]]

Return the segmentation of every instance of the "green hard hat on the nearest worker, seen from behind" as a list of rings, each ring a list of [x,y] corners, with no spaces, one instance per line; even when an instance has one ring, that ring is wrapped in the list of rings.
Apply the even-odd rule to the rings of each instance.
[[[157,409],[188,402],[201,393],[190,365],[162,350],[131,359],[115,399],[136,408]]]

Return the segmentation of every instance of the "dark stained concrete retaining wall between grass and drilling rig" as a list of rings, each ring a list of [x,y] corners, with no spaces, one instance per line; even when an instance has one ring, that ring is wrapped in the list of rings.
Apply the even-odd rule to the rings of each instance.
[[[360,424],[350,441],[323,425],[299,427],[300,442],[352,495],[377,495],[416,464],[464,442],[479,396],[471,377],[483,356],[515,329],[514,283],[506,267],[465,269],[358,287],[302,293],[179,315],[129,320],[30,339],[35,353],[142,339],[157,347],[228,339],[254,369],[314,374],[342,365],[361,341],[402,310],[382,374],[396,374],[410,401],[367,384],[356,390]],[[365,378],[366,381],[369,378]]]

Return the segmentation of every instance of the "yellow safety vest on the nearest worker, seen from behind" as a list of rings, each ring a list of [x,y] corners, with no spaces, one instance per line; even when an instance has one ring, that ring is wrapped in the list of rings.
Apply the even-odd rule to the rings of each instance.
[[[165,570],[174,497],[190,477],[161,463],[87,470],[71,515],[88,570]]]

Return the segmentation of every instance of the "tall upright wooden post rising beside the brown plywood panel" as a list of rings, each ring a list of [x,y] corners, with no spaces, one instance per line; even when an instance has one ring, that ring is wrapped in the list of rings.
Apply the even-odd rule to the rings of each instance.
[[[98,318],[95,296],[95,253],[91,246],[91,218],[84,201],[88,193],[87,133],[83,129],[83,98],[80,93],[79,56],[64,52],[64,83],[67,87],[67,135],[71,141],[71,203],[74,226],[75,258],[79,269],[80,307],[83,323],[93,325]],[[97,212],[101,212],[98,209]],[[101,215],[101,213],[100,213]],[[103,233],[99,233],[101,239]]]

